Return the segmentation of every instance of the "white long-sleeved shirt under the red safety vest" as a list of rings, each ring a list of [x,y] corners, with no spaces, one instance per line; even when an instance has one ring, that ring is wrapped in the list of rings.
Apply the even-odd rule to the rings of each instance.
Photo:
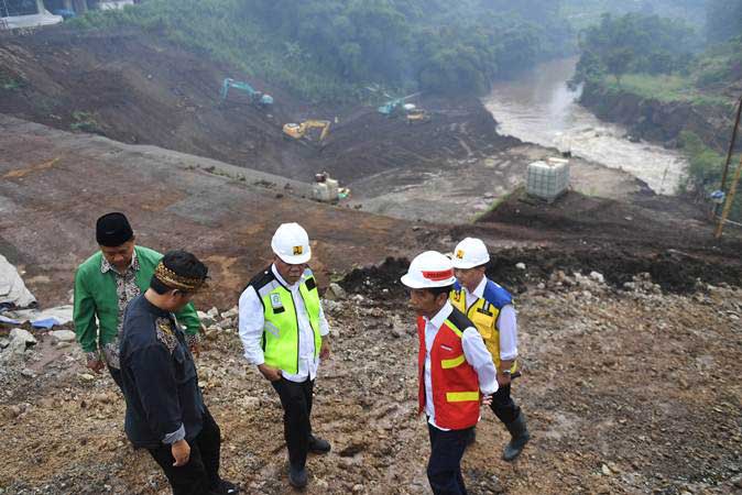
[[[446,319],[454,311],[454,307],[449,301],[446,301],[440,311],[432,319],[425,320],[425,414],[428,417],[428,422],[439,430],[440,428],[435,422],[435,405],[433,404],[433,378],[430,377],[430,350],[435,342],[438,330],[444,324]],[[460,330],[460,329],[459,329]],[[473,327],[468,327],[462,331],[461,346],[463,348],[463,358],[467,363],[471,365],[479,377],[479,389],[483,395],[491,395],[498,391],[497,371],[492,363],[492,355],[484,346],[482,336]]]

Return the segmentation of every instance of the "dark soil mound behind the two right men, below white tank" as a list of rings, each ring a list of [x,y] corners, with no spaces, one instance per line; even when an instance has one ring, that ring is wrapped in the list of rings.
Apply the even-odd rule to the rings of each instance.
[[[421,252],[450,252],[466,237],[483,239],[492,253],[488,276],[514,293],[559,271],[594,271],[618,289],[642,274],[668,293],[692,292],[698,280],[741,286],[742,240],[730,231],[716,241],[702,219],[694,206],[672,198],[640,195],[626,205],[569,193],[547,205],[517,190],[474,226],[416,229]],[[342,285],[380,299],[399,297],[407,266],[407,260],[388,258],[350,272]]]

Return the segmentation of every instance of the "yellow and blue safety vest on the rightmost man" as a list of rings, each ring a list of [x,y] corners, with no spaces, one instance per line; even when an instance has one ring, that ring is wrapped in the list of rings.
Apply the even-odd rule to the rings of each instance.
[[[513,304],[510,293],[488,279],[482,297],[479,297],[473,305],[467,308],[466,292],[457,282],[454,285],[454,290],[451,290],[450,301],[456,309],[474,323],[474,327],[484,340],[487,350],[492,354],[494,366],[500,370],[500,329],[498,328],[498,318],[503,306]],[[515,372],[517,363],[514,362],[510,370],[511,372]]]

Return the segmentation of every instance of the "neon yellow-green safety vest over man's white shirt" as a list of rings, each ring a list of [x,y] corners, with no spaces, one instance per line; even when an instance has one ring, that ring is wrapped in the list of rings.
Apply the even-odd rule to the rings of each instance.
[[[308,286],[307,283],[309,283]],[[317,358],[321,346],[321,336],[319,334],[319,294],[314,276],[303,277],[299,294],[309,317],[314,333],[315,358]],[[291,374],[298,373],[298,315],[291,290],[273,279],[258,289],[258,296],[263,302],[265,318],[263,327],[265,364]]]

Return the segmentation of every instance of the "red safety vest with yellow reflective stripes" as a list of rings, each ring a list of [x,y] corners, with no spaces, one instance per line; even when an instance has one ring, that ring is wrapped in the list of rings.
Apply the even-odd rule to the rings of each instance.
[[[461,344],[462,329],[473,327],[456,308],[438,330],[430,348],[430,382],[435,421],[440,428],[461,430],[479,421],[479,377],[467,362]],[[425,319],[417,318],[419,352],[418,414],[425,410]]]

